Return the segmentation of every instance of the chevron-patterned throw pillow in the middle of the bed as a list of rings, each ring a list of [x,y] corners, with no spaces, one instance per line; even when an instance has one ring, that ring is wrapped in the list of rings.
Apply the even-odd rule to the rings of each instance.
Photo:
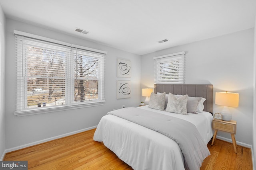
[[[179,98],[176,98],[173,94],[169,93],[166,111],[187,115],[188,114],[187,102],[188,102],[187,94]]]

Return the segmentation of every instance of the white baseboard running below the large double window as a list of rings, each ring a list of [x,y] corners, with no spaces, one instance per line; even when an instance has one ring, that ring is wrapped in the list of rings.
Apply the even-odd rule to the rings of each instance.
[[[74,135],[76,133],[80,133],[80,132],[88,131],[88,130],[91,130],[91,129],[95,129],[96,127],[97,127],[97,125],[96,126],[92,126],[92,127],[88,127],[88,128],[85,128],[85,129],[80,129],[78,131],[73,131],[73,132],[70,132],[70,133],[65,133],[63,135],[58,135],[58,136],[55,136],[55,137],[50,137],[50,138],[47,138],[47,139],[43,139],[41,141],[36,141],[36,142],[28,143],[28,144],[25,144],[25,145],[21,145],[21,146],[18,146],[18,147],[13,147],[13,148],[10,148],[10,149],[6,149],[6,150],[4,150],[4,153],[3,153],[2,157],[1,157],[1,160],[4,158],[4,155],[6,153],[8,153],[8,152],[12,152],[14,150],[23,149],[23,148],[26,148],[26,147],[31,147],[33,145],[38,145],[40,143],[52,141],[54,139],[59,139],[59,138],[62,138],[62,137],[67,137],[67,136],[70,136],[70,135]]]

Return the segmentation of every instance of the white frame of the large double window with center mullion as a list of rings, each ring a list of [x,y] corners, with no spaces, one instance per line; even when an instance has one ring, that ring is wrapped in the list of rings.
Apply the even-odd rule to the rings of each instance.
[[[46,41],[46,42],[50,42],[50,43],[55,43],[55,44],[59,44],[59,45],[64,45],[64,46],[67,46],[68,48],[70,48],[70,51],[72,50],[72,48],[77,48],[77,49],[81,49],[81,50],[84,50],[84,51],[87,51],[88,53],[94,53],[94,54],[98,54],[99,56],[102,56],[102,84],[101,84],[101,87],[98,87],[98,88],[101,88],[101,91],[102,93],[100,95],[102,95],[102,98],[99,100],[91,100],[91,101],[86,101],[86,102],[78,102],[76,104],[74,104],[73,102],[73,98],[72,98],[72,94],[74,96],[74,76],[72,76],[72,69],[73,69],[73,66],[72,66],[72,54],[70,52],[70,72],[68,72],[68,77],[69,77],[69,80],[68,80],[68,85],[66,84],[65,88],[70,88],[69,89],[69,92],[70,94],[67,94],[67,104],[65,106],[54,106],[54,107],[35,107],[35,108],[27,108],[27,107],[24,107],[24,109],[20,110],[18,109],[18,93],[16,91],[16,111],[14,112],[14,115],[17,115],[17,116],[25,116],[25,115],[35,115],[35,114],[41,114],[41,113],[51,113],[51,112],[56,112],[56,111],[64,111],[64,110],[70,110],[70,109],[78,109],[78,108],[84,108],[84,107],[93,107],[93,106],[102,106],[106,101],[105,101],[105,98],[104,98],[104,70],[105,70],[105,58],[106,58],[106,51],[101,51],[101,50],[98,50],[98,49],[92,49],[92,48],[88,48],[88,47],[83,47],[83,46],[80,46],[80,45],[74,45],[74,44],[70,44],[70,43],[66,43],[66,42],[62,42],[62,41],[58,41],[58,40],[55,40],[55,39],[50,39],[50,38],[46,38],[46,37],[42,37],[42,36],[39,36],[39,35],[34,35],[34,34],[30,34],[30,33],[25,33],[25,32],[22,32],[22,31],[17,31],[17,30],[14,30],[14,36],[15,36],[15,39],[16,39],[16,36],[23,36],[23,37],[28,37],[28,38],[31,38],[31,39],[38,39],[40,41]],[[16,41],[16,40],[15,40]],[[22,55],[23,56],[23,55]],[[17,49],[16,49],[16,59],[18,60],[18,56],[17,56]],[[17,61],[18,62],[18,61]],[[23,61],[22,61],[23,62]],[[24,71],[24,62],[22,63],[22,69]],[[16,70],[16,79],[18,81],[18,68]],[[24,76],[22,76],[24,77]],[[17,88],[17,81],[16,81],[16,88]],[[23,86],[26,86],[26,80],[23,80]],[[18,89],[18,88],[17,88]],[[25,94],[22,94],[26,100],[27,100],[27,96],[26,96],[26,93]],[[26,102],[26,101],[25,101]]]

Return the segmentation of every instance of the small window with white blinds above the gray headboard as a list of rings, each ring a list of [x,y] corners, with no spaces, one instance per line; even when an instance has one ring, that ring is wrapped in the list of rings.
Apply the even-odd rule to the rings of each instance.
[[[185,52],[154,57],[154,84],[184,84]]]

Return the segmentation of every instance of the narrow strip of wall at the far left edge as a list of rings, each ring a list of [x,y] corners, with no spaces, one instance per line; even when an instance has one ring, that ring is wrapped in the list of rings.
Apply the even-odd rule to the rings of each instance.
[[[4,116],[4,82],[5,82],[5,16],[0,5],[0,158],[5,150],[5,116]],[[1,160],[1,159],[0,159]]]

